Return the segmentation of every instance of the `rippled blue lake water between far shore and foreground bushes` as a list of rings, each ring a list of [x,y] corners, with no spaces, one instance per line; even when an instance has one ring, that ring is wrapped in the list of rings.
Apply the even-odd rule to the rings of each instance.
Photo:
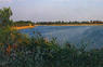
[[[34,31],[40,32],[49,40],[56,38],[60,45],[69,42],[76,46],[87,44],[88,49],[103,48],[103,26],[38,26],[21,30],[30,37]]]

